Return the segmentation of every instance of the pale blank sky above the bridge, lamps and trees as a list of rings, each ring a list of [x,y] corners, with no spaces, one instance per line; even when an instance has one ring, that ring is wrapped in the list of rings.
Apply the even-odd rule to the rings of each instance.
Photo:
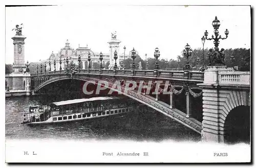
[[[203,47],[205,30],[214,31],[211,23],[220,20],[219,32],[229,30],[228,38],[220,40],[220,49],[250,49],[250,6],[125,6],[125,5],[59,5],[41,7],[6,7],[6,63],[13,63],[15,25],[23,23],[25,61],[36,62],[58,53],[67,39],[74,49],[91,48],[93,52],[109,53],[111,33],[117,32],[120,53],[125,45],[128,53],[135,48],[142,59],[154,57],[176,59],[186,43],[191,49]],[[213,40],[205,48],[214,47]]]

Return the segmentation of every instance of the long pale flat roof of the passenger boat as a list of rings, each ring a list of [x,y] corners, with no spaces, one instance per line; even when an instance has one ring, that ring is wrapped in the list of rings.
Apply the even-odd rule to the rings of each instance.
[[[118,97],[96,97],[96,98],[89,98],[89,99],[74,99],[74,100],[53,102],[53,104],[55,104],[56,106],[61,106],[61,105],[67,105],[67,104],[91,102],[91,101],[97,101],[97,100],[112,100],[112,99],[120,99],[120,98],[118,98]]]

